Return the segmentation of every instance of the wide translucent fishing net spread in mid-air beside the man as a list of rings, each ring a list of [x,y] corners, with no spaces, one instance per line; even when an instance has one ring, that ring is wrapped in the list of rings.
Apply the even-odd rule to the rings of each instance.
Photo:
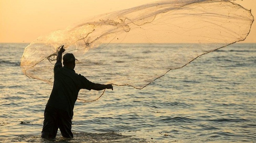
[[[53,84],[54,53],[64,45],[78,59],[76,73],[90,81],[142,89],[200,55],[244,40],[253,20],[251,11],[229,0],[149,3],[38,37],[25,48],[21,67],[28,77]],[[101,94],[81,90],[79,99]]]

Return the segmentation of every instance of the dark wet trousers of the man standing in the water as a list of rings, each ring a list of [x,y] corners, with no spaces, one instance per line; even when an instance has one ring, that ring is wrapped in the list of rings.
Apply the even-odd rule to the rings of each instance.
[[[41,138],[55,139],[58,128],[65,138],[73,138],[72,121],[67,111],[46,106],[44,110],[44,125]]]

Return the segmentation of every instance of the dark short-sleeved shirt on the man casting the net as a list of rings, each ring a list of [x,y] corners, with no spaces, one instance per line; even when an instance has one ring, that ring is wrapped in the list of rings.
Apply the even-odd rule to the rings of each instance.
[[[73,116],[74,104],[80,89],[91,90],[92,82],[81,74],[76,74],[69,67],[62,67],[61,62],[54,66],[54,85],[47,106],[65,110]]]

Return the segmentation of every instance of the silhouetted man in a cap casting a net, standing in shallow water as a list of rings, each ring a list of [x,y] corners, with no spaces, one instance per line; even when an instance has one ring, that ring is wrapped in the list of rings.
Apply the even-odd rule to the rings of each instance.
[[[73,138],[71,120],[73,119],[74,104],[80,89],[113,90],[111,84],[93,83],[81,74],[75,73],[75,60],[77,59],[71,53],[63,56],[64,66],[62,67],[62,53],[65,51],[63,47],[60,48],[57,55],[57,61],[54,66],[53,89],[44,111],[41,138],[45,139],[54,139],[58,128],[63,137]]]

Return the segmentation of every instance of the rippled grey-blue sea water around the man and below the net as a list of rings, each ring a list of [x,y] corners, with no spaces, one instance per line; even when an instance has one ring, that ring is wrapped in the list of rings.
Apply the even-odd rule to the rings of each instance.
[[[231,44],[139,90],[76,102],[65,139],[40,138],[52,86],[22,73],[28,43],[0,43],[0,142],[256,142],[256,44]],[[86,75],[84,75],[86,76]]]

